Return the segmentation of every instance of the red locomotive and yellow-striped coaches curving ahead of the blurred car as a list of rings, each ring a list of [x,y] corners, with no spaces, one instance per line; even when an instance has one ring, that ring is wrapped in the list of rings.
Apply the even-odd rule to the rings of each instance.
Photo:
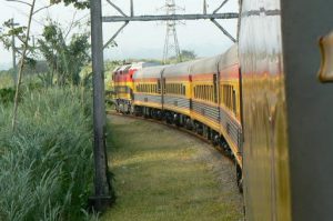
[[[242,168],[241,87],[238,47],[224,54],[114,72],[118,110],[165,119],[220,143]],[[123,87],[127,90],[120,90]],[[239,174],[239,180],[241,173]]]

